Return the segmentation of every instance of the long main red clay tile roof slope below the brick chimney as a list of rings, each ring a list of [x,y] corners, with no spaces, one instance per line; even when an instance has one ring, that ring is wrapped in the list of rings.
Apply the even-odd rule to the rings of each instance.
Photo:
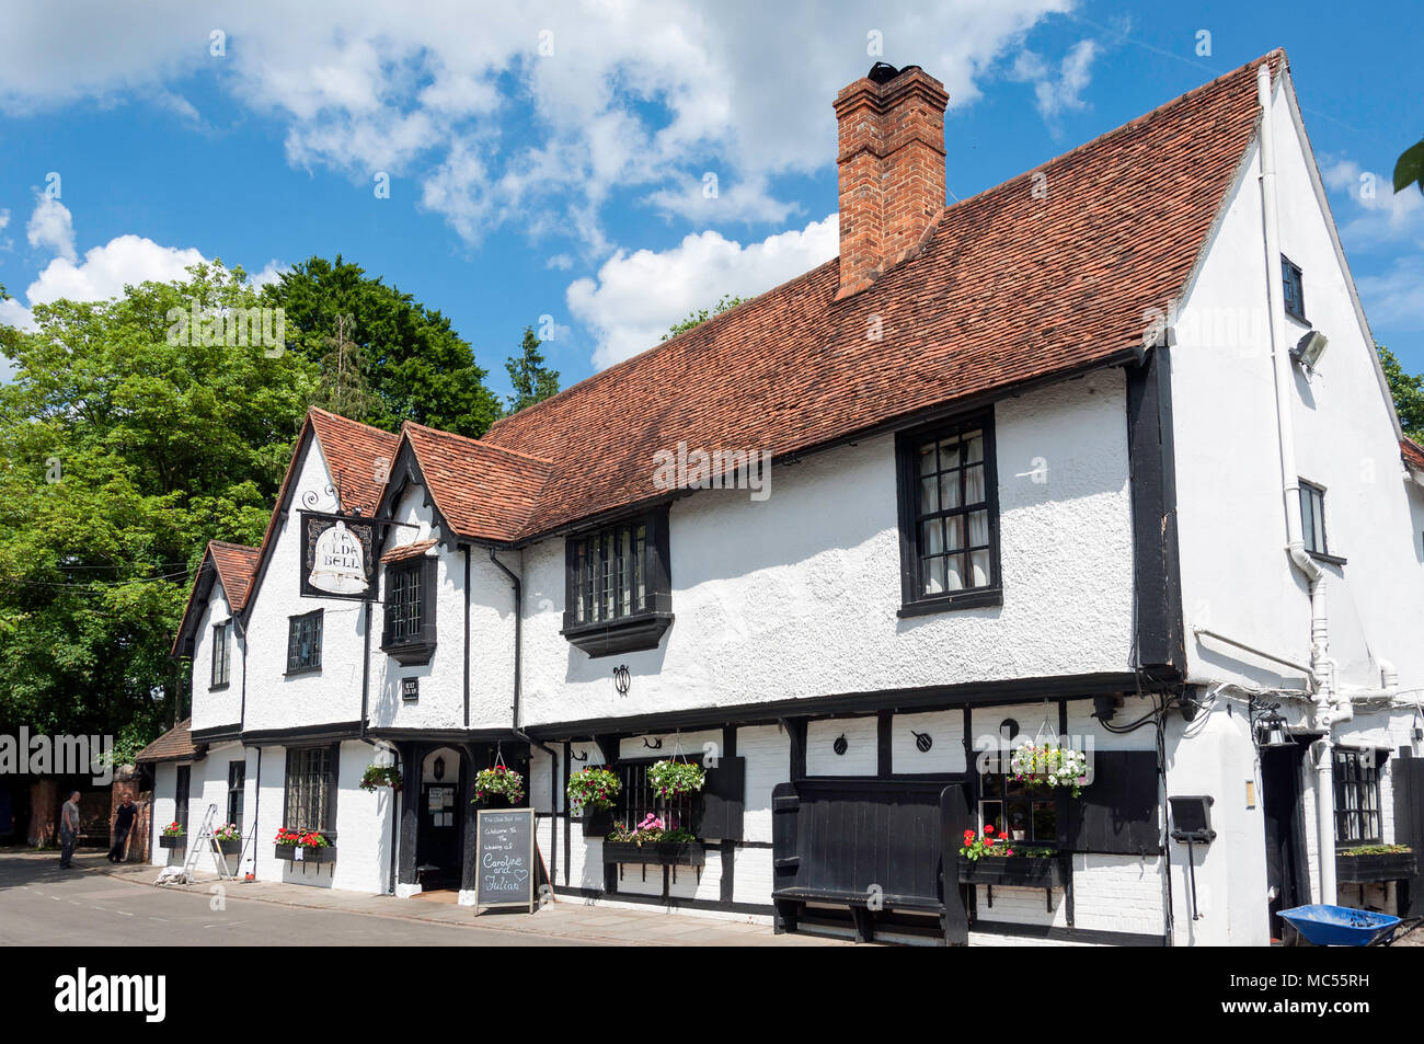
[[[656,496],[654,454],[679,440],[779,457],[1141,346],[1256,134],[1260,61],[1279,75],[1286,56],[948,207],[918,256],[854,296],[834,301],[826,262],[500,420],[486,446],[553,461],[523,536]],[[496,510],[474,469],[459,490],[463,510]]]

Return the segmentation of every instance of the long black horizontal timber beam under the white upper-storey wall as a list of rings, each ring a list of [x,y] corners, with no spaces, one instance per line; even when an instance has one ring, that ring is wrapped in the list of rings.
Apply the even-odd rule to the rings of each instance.
[[[541,739],[584,739],[609,732],[619,735],[665,732],[675,728],[703,728],[725,725],[726,722],[756,725],[776,722],[783,718],[863,715],[877,711],[909,711],[937,706],[984,706],[1025,701],[1037,702],[1042,699],[1087,699],[1095,695],[1135,692],[1136,687],[1138,675],[1134,671],[1104,671],[1099,674],[1071,674],[1052,678],[1012,678],[1007,681],[960,682],[954,685],[923,685],[913,689],[840,692],[829,696],[800,696],[759,704],[701,706],[686,711],[662,711],[615,718],[585,718],[581,721],[530,725],[528,732]]]

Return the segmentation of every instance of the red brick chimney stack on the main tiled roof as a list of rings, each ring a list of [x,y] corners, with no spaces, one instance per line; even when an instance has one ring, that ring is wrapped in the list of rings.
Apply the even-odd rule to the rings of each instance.
[[[870,286],[910,256],[944,209],[944,84],[877,61],[836,95],[840,291]]]

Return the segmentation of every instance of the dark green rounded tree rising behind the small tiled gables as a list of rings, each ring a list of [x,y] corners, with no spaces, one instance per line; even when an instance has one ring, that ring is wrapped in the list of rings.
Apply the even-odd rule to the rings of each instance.
[[[302,262],[265,286],[262,301],[283,310],[288,343],[312,360],[330,352],[339,318],[352,318],[347,338],[360,350],[369,392],[365,414],[353,420],[387,432],[414,420],[480,436],[500,416],[486,372],[450,320],[340,255]]]

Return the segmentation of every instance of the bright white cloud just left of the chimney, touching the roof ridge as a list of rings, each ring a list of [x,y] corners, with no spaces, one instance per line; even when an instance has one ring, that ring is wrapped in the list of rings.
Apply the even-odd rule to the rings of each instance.
[[[722,295],[750,298],[836,256],[834,214],[803,229],[742,244],[713,231],[666,251],[619,251],[597,279],[568,288],[568,308],[595,335],[600,369],[652,348],[668,328]]]

